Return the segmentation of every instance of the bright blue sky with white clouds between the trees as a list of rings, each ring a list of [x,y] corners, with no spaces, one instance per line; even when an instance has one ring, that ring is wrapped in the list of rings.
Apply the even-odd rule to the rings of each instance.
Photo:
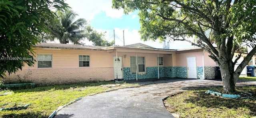
[[[114,40],[114,30],[116,44],[123,46],[128,44],[143,43],[155,48],[162,48],[163,44],[156,42],[140,40],[140,23],[138,11],[128,15],[123,13],[123,10],[112,9],[112,0],[65,0],[67,4],[79,16],[77,18],[85,18],[88,24],[98,32],[106,32],[105,39],[108,41]],[[124,42],[123,42],[124,30]],[[83,41],[91,45],[92,42]],[[184,41],[171,41],[170,49],[190,48],[190,43]]]

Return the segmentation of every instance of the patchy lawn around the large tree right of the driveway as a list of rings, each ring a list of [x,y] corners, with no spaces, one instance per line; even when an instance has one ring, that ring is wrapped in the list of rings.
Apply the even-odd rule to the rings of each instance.
[[[164,101],[171,113],[180,118],[252,118],[256,116],[256,86],[236,87],[238,93],[250,92],[253,98],[222,98],[205,94],[206,90],[222,91],[219,88],[189,90]]]

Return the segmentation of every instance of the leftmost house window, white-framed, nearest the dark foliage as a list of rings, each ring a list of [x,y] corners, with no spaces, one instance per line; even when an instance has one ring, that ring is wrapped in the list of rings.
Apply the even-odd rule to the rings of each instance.
[[[52,68],[52,55],[51,54],[38,54],[37,55],[38,68]]]

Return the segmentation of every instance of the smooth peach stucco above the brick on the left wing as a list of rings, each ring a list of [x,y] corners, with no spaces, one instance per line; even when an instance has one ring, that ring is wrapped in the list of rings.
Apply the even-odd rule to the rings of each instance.
[[[109,53],[106,51],[91,51],[91,50],[44,50],[42,48],[37,48],[34,50],[37,54],[52,54],[52,69],[56,68],[89,68],[89,67],[79,67],[79,55],[89,55],[90,56],[90,67],[91,68],[105,68],[113,67],[112,60]],[[108,63],[106,63],[108,62]],[[110,63],[109,63],[110,62]],[[40,69],[37,68],[37,62],[30,69]],[[28,66],[23,67],[23,69],[28,68]],[[48,68],[51,69],[51,68]]]

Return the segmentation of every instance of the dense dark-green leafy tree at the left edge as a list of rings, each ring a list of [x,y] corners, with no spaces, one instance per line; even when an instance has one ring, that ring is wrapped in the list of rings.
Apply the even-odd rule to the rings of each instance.
[[[55,14],[50,10],[68,7],[64,0],[1,0],[0,1],[0,77],[32,66],[33,50],[42,32],[49,32]],[[30,59],[28,59],[30,58]]]

